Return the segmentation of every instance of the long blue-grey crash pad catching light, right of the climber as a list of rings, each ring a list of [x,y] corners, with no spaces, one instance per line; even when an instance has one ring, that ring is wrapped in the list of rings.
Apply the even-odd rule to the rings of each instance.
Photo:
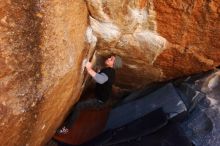
[[[186,111],[183,101],[171,83],[141,99],[114,108],[110,112],[105,130],[121,127],[160,107],[169,118]]]

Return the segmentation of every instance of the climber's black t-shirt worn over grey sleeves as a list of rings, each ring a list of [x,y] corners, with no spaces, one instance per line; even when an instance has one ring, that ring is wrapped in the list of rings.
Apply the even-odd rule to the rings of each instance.
[[[104,84],[96,83],[95,94],[97,99],[106,102],[112,93],[112,84],[115,80],[115,70],[111,67],[102,69],[99,73],[105,73],[108,80]]]

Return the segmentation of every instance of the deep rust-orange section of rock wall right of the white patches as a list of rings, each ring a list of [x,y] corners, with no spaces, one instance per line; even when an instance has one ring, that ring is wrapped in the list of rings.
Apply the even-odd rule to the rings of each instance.
[[[170,45],[155,61],[164,78],[207,71],[220,63],[220,2],[154,1],[157,32]]]

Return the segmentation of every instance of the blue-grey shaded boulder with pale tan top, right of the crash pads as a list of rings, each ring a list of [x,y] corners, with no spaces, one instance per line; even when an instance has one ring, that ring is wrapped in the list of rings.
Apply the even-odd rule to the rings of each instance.
[[[220,71],[202,75],[191,84],[206,94],[195,104],[195,109],[181,124],[186,135],[196,146],[220,145]]]

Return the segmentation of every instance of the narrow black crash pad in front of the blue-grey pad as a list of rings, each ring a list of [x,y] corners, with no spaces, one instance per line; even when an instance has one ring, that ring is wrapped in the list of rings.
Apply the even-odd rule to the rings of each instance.
[[[116,129],[116,133],[106,145],[116,145],[119,143],[134,140],[138,137],[149,135],[158,131],[160,128],[168,123],[166,114],[162,108],[159,108],[142,118],[139,118],[119,129]]]

